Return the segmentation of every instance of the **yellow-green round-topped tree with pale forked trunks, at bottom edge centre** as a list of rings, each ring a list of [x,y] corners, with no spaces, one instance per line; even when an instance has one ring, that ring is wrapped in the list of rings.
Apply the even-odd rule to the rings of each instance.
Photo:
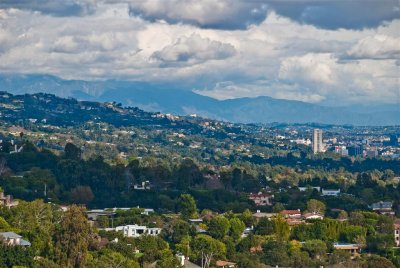
[[[197,235],[193,241],[194,259],[201,260],[201,267],[210,267],[212,259],[224,258],[225,245],[208,235]]]

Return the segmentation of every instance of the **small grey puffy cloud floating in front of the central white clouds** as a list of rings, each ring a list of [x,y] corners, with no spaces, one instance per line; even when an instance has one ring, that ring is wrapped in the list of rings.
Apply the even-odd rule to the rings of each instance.
[[[221,43],[202,38],[198,34],[189,37],[183,36],[174,44],[164,47],[153,54],[153,58],[165,64],[185,62],[197,64],[207,60],[222,60],[235,54],[235,48],[231,44]]]

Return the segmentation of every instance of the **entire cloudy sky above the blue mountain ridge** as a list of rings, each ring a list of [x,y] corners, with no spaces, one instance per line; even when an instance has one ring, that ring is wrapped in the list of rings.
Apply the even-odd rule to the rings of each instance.
[[[0,0],[0,73],[399,103],[400,0]]]

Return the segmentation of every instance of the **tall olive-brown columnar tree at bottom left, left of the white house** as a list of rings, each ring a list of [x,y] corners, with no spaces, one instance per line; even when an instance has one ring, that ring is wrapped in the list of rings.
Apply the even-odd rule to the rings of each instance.
[[[80,207],[69,207],[62,217],[55,238],[56,263],[67,268],[85,266],[91,230]]]

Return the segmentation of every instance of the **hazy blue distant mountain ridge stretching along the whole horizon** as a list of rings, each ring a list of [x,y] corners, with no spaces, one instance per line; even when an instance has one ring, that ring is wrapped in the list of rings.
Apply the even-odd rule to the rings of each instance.
[[[234,123],[399,125],[396,104],[327,107],[271,97],[216,100],[173,85],[130,81],[63,80],[50,75],[0,74],[0,91],[52,93],[78,100],[116,101],[145,111],[199,116]]]

